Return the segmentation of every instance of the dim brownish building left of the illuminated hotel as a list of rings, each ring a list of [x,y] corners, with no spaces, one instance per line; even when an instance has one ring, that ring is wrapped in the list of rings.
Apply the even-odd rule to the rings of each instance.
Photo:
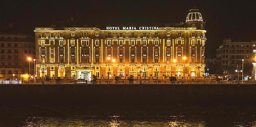
[[[0,80],[20,80],[24,74],[34,74],[35,38],[21,33],[0,33]],[[28,76],[28,75],[26,75]]]

